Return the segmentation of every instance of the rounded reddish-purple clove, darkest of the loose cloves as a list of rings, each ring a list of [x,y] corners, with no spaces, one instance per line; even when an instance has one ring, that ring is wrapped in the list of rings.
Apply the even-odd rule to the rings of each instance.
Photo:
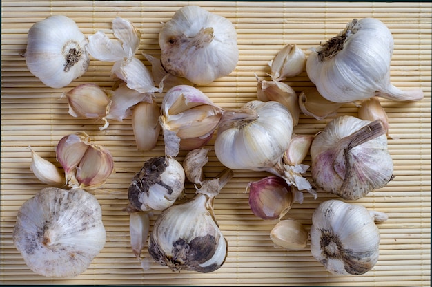
[[[279,176],[267,176],[248,184],[249,206],[253,214],[261,219],[273,220],[291,210],[294,201],[291,188]]]

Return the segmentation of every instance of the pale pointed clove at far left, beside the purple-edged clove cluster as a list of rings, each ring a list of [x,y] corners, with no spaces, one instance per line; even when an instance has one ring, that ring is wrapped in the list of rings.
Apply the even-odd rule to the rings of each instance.
[[[66,185],[65,175],[48,160],[41,158],[31,147],[28,146],[32,151],[32,164],[30,169],[35,176],[41,180],[41,182],[47,185],[61,187]]]

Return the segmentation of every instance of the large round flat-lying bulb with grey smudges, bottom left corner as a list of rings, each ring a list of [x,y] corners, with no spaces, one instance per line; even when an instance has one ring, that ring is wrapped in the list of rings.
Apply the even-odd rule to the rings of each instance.
[[[82,189],[44,188],[19,209],[13,241],[33,272],[77,276],[104,248],[101,206]]]

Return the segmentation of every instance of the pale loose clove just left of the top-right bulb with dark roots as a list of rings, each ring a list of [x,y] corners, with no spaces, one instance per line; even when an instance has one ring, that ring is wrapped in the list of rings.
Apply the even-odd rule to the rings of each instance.
[[[295,77],[306,66],[306,54],[296,45],[288,44],[277,53],[275,59],[268,62],[273,81],[282,81],[286,77]]]

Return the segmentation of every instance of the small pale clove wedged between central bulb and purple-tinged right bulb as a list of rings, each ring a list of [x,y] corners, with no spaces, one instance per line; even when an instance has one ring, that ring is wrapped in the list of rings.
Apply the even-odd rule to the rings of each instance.
[[[284,154],[286,165],[300,165],[306,158],[315,136],[293,134],[290,145]]]

